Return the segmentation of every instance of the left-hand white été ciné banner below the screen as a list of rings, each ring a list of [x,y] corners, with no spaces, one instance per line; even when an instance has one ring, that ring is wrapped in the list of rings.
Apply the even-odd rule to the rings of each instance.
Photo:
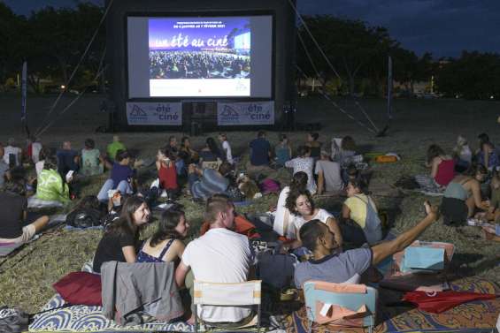
[[[181,102],[127,102],[128,125],[182,125]]]

